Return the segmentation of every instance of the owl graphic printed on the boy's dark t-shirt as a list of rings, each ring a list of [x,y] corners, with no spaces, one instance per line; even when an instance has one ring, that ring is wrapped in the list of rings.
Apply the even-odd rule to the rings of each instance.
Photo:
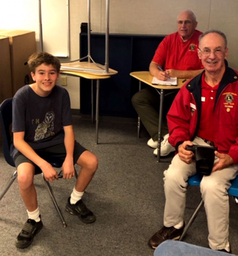
[[[54,120],[55,114],[53,111],[48,111],[45,114],[45,119],[41,124],[38,124],[34,141],[43,140],[54,135]]]

